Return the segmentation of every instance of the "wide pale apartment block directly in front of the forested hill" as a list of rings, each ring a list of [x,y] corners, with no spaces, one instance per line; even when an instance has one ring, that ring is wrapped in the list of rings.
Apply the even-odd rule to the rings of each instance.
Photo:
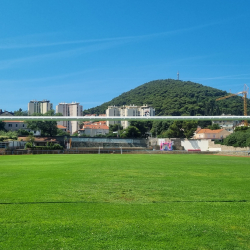
[[[123,105],[123,106],[109,106],[106,110],[108,116],[155,116],[155,109],[147,104],[143,106]],[[107,125],[121,124],[123,128],[129,126],[128,121],[107,121]]]

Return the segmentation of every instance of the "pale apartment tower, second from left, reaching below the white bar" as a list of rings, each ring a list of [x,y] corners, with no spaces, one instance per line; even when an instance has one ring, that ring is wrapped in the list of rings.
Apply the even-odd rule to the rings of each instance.
[[[82,116],[82,105],[78,102],[59,103],[56,106],[56,113],[62,113],[63,116]],[[57,125],[66,127],[71,135],[79,129],[77,121],[60,121]]]

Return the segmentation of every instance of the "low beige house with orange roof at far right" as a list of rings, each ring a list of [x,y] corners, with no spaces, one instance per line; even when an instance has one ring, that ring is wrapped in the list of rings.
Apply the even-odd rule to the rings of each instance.
[[[231,133],[226,131],[225,129],[197,129],[195,132],[195,135],[193,136],[193,139],[223,139],[226,138]]]

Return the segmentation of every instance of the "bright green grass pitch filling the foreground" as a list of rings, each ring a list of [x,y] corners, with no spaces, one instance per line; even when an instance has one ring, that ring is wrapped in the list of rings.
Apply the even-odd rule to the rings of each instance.
[[[250,249],[250,160],[0,156],[0,249]]]

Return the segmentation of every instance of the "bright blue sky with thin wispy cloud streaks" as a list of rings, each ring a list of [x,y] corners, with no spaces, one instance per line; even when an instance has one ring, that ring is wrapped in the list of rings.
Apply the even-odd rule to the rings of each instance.
[[[84,109],[157,79],[250,87],[249,0],[2,0],[0,109]]]

